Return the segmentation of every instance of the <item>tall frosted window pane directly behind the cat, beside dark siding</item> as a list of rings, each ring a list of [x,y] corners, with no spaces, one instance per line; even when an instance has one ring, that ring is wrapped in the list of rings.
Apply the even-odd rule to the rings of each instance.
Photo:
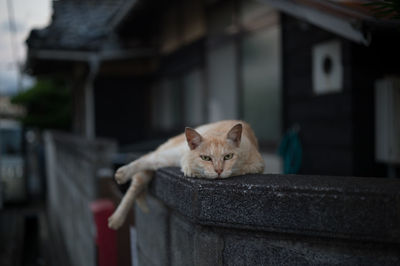
[[[243,38],[243,118],[261,143],[276,144],[281,136],[280,27],[268,25]]]

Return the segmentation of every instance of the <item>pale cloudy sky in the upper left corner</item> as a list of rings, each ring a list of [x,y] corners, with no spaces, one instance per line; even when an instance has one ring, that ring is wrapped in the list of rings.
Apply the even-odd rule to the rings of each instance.
[[[9,28],[7,3],[13,7],[15,32]],[[31,29],[43,28],[49,24],[51,5],[51,0],[0,0],[0,96],[17,92],[18,71],[15,60],[25,62],[25,40]],[[32,82],[32,78],[26,75],[23,77],[24,87],[29,87]]]

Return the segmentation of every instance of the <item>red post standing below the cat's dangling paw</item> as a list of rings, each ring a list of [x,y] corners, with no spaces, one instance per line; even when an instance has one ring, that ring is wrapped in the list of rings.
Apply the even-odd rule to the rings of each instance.
[[[117,235],[108,228],[108,217],[114,212],[114,204],[108,199],[98,199],[90,204],[96,223],[97,265],[117,265]]]

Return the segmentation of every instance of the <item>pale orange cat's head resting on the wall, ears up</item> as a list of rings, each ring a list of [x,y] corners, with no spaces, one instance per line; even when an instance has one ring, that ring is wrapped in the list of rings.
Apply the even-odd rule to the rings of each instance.
[[[186,128],[186,141],[190,151],[187,165],[191,176],[226,178],[235,174],[240,160],[242,124],[237,124],[221,136],[202,136],[192,128]]]

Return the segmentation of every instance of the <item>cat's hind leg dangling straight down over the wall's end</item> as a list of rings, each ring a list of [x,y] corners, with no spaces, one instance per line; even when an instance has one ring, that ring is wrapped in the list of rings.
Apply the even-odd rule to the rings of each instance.
[[[151,181],[152,177],[153,171],[142,171],[132,177],[131,184],[118,205],[118,208],[108,218],[109,228],[116,230],[122,226],[134,201],[138,197],[140,198],[140,205],[147,207],[147,205],[144,205],[145,203],[143,203],[143,197],[145,195],[144,189],[147,187],[147,184]]]

